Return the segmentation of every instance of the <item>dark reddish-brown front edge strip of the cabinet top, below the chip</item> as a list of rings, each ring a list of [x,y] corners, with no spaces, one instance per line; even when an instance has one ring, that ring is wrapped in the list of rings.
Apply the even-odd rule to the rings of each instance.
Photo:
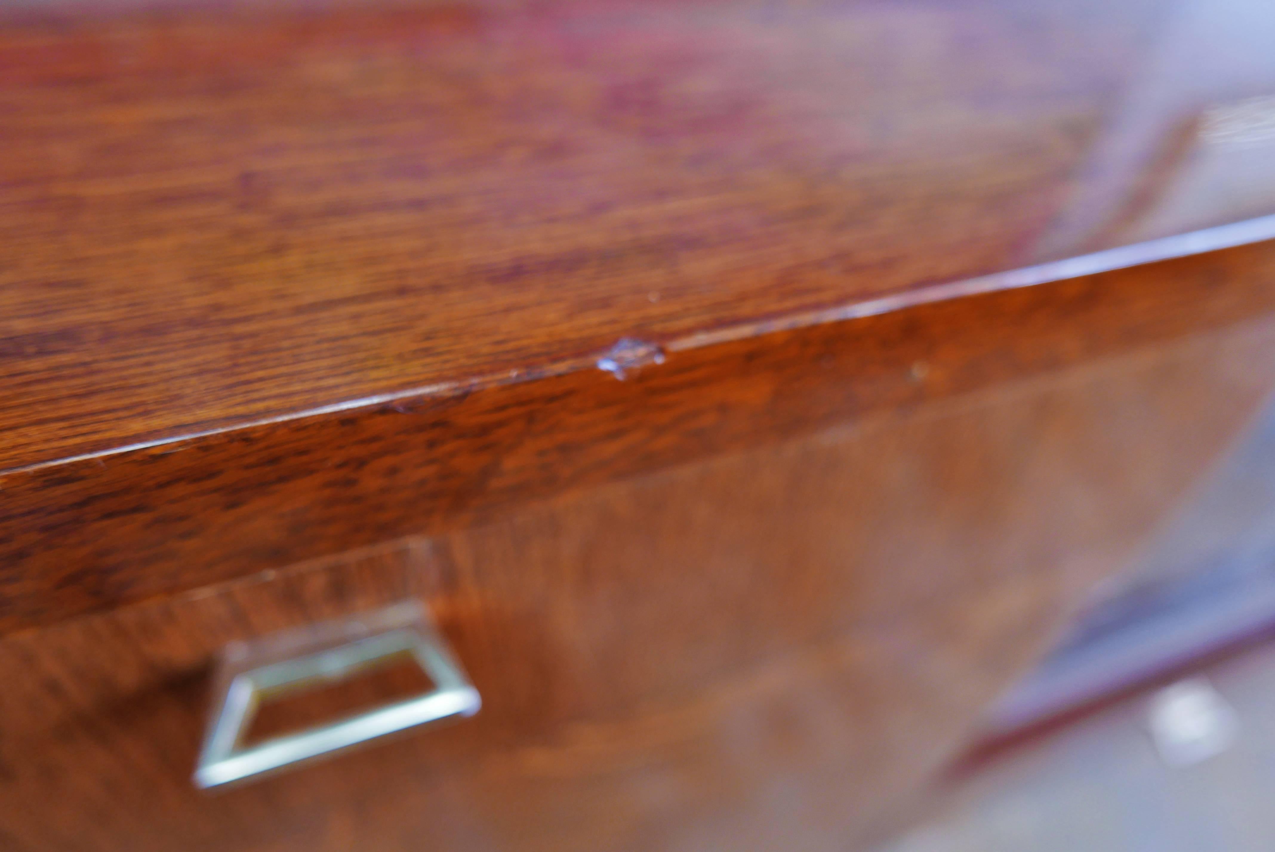
[[[1275,243],[1244,246],[668,353],[625,381],[593,369],[9,474],[0,632],[1183,345],[1266,321],[1272,275]]]

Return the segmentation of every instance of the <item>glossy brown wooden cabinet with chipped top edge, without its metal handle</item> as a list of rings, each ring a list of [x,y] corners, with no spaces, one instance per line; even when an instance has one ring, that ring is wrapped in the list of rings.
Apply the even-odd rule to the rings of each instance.
[[[870,842],[1275,390],[1264,33],[6,9],[0,848]],[[476,717],[195,790],[227,643],[405,599]]]

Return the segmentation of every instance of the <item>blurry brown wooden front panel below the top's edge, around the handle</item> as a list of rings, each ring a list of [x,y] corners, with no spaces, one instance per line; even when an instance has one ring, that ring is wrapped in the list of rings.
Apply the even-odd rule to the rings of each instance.
[[[10,635],[0,838],[853,848],[1242,429],[1272,344],[1271,317],[1223,326]],[[224,642],[404,595],[431,602],[478,717],[191,788]]]

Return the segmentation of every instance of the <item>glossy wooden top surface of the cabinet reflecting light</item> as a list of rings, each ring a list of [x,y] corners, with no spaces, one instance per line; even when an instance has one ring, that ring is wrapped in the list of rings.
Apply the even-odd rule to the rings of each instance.
[[[1275,211],[1265,0],[311,6],[3,13],[0,470]]]

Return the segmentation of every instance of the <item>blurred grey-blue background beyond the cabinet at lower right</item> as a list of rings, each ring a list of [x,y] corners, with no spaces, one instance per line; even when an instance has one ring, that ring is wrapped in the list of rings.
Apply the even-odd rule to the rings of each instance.
[[[877,852],[1275,848],[1275,406]]]

